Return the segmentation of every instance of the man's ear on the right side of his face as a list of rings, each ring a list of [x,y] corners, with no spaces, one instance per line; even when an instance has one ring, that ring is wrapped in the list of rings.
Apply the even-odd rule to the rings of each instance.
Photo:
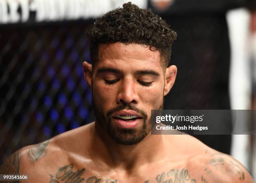
[[[165,71],[165,86],[164,86],[164,96],[169,93],[172,86],[174,85],[174,81],[177,75],[177,67],[175,65],[171,65],[166,68]]]

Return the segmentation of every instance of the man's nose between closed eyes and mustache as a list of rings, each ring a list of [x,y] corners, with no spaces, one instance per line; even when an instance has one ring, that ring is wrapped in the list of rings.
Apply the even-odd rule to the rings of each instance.
[[[118,104],[137,104],[139,97],[136,91],[136,81],[132,79],[124,79],[120,85],[118,96],[117,96],[117,103]]]

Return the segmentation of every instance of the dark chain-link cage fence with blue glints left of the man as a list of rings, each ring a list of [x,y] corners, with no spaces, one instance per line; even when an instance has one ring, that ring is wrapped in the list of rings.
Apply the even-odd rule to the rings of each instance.
[[[92,121],[90,21],[0,28],[0,164],[15,150]]]

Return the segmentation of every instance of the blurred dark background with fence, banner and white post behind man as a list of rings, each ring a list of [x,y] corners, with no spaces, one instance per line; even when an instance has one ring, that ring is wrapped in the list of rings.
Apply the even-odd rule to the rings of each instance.
[[[256,0],[129,0],[178,34],[165,109],[256,110]],[[0,164],[15,150],[94,120],[86,31],[125,0],[0,1]],[[219,123],[230,123],[230,121]],[[245,124],[253,125],[253,124]],[[255,135],[197,136],[256,177]],[[86,140],[86,139],[85,139]]]

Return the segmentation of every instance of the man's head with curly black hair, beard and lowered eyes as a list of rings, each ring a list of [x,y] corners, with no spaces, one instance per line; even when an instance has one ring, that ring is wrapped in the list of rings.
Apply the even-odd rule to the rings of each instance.
[[[83,69],[96,123],[115,142],[136,144],[174,84],[177,68],[166,67],[176,33],[151,11],[126,3],[96,20],[89,36],[92,65]]]

